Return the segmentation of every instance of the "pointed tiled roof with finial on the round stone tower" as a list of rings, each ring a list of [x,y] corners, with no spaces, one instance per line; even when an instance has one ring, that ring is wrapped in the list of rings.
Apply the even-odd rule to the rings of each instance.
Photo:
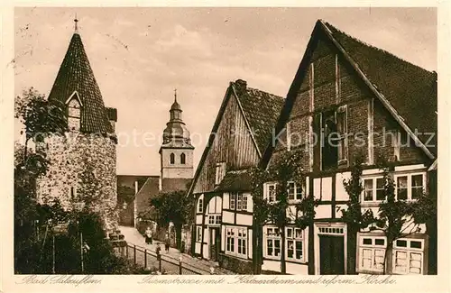
[[[49,103],[65,105],[71,96],[78,96],[82,105],[80,131],[82,133],[114,133],[113,127],[108,121],[100,88],[78,34],[77,24],[78,19],[76,18],[75,32],[51,88]]]

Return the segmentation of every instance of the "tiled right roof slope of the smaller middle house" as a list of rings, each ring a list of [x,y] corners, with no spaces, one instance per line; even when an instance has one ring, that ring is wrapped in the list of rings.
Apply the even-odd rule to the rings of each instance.
[[[241,79],[233,82],[232,87],[243,108],[257,147],[262,152],[270,142],[272,128],[281,114],[284,99],[260,89],[247,87],[246,82]]]

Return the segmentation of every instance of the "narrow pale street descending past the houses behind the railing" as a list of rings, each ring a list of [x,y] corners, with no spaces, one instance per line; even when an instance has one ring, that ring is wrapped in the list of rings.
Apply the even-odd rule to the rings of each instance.
[[[215,269],[214,270],[215,274],[220,274],[220,275],[234,275],[235,274],[233,271],[219,268],[219,265],[216,261],[207,261],[207,260],[201,260],[198,258],[194,258],[187,253],[180,253],[179,250],[172,248],[172,247],[170,247],[169,252],[165,252],[164,243],[162,243],[160,241],[154,240],[152,244],[147,244],[147,243],[145,243],[145,238],[143,237],[143,235],[141,233],[139,233],[138,230],[136,230],[133,227],[119,226],[119,230],[121,230],[121,233],[124,234],[125,241],[127,243],[129,243],[131,245],[134,244],[137,246],[141,246],[151,252],[155,252],[157,243],[160,243],[161,258],[163,260],[170,259],[171,261],[178,262],[179,256],[181,254],[182,262],[187,263],[187,264],[189,264],[189,266],[192,266],[192,267],[198,269],[197,271],[199,273],[207,275],[207,274],[209,274],[210,268],[213,267]]]

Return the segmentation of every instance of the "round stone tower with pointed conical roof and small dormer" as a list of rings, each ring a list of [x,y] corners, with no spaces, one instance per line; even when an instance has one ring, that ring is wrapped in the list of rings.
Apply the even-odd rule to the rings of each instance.
[[[102,215],[109,233],[117,227],[117,111],[104,105],[77,22],[48,98],[49,104],[65,110],[68,128],[64,135],[51,133],[36,145],[51,162],[38,181],[38,199],[50,203],[57,197],[67,209],[85,203]]]

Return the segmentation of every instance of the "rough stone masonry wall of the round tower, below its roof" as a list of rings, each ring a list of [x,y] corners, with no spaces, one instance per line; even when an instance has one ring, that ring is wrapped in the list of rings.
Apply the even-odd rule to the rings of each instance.
[[[74,199],[70,189],[74,188],[77,198],[83,188],[80,177],[87,173],[89,165],[94,182],[89,190],[94,190],[94,202],[87,207],[103,217],[107,233],[114,231],[118,218],[115,142],[99,134],[51,134],[39,148],[51,164],[46,176],[38,180],[38,200],[48,203],[57,197],[62,206],[71,209]]]

